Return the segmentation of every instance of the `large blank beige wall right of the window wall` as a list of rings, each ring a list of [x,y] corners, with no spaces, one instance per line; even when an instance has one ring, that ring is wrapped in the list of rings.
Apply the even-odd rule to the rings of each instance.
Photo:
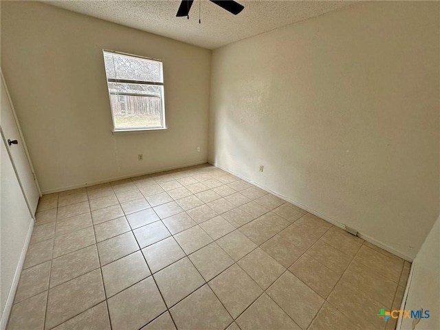
[[[214,50],[210,104],[210,162],[415,256],[439,214],[438,2],[360,3]]]

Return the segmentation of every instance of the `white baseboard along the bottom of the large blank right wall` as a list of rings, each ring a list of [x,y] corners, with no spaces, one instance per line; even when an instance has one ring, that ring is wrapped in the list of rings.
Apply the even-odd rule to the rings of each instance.
[[[298,201],[294,201],[293,199],[290,199],[289,197],[280,195],[280,194],[278,194],[278,192],[271,190],[270,188],[267,188],[266,186],[261,186],[260,184],[256,183],[255,181],[252,181],[252,180],[248,179],[247,177],[243,177],[243,175],[239,175],[238,173],[234,173],[231,170],[228,170],[227,168],[223,168],[222,166],[219,166],[219,164],[215,164],[215,163],[213,164],[211,162],[209,162],[209,163],[211,165],[218,167],[218,168],[221,168],[221,170],[224,170],[225,172],[228,172],[232,175],[235,175],[236,177],[239,177],[243,181],[247,181],[250,184],[253,184],[254,186],[257,186],[263,190],[266,190],[267,192],[270,192],[271,194],[276,195],[277,197],[280,197],[281,199],[284,199],[285,201],[288,201],[289,203],[294,204],[294,206],[298,206],[298,208],[302,208],[303,210],[305,210],[311,214],[316,215],[316,217],[320,217],[321,219],[324,219],[325,221],[331,223],[332,225],[336,225],[336,227],[342,228],[343,230],[345,230],[345,228],[346,228],[346,225],[344,223],[341,223],[335,219],[327,217],[325,214],[321,214],[320,212],[318,212],[312,208],[309,208],[308,206],[306,206],[302,203],[299,203]],[[363,234],[362,232],[358,232],[358,236],[361,239],[364,239],[365,241],[367,241],[371,244],[374,244],[383,250],[386,250],[396,256],[399,256],[401,259],[404,259],[404,260],[410,261],[410,262],[412,262],[412,260],[414,259],[412,256],[408,256],[407,254],[404,254],[403,252],[395,250],[395,248],[391,248],[391,246],[386,245],[385,243],[382,243],[380,241],[377,241],[376,239],[373,239],[373,237],[366,235],[366,234]]]

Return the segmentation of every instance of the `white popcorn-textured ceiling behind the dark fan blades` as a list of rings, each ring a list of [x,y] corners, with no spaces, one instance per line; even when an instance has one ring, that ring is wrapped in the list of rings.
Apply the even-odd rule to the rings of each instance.
[[[282,26],[317,17],[355,1],[249,1],[234,16],[208,0],[195,0],[190,19],[176,17],[180,1],[43,1],[106,21],[214,49]],[[199,5],[201,24],[199,24]]]

